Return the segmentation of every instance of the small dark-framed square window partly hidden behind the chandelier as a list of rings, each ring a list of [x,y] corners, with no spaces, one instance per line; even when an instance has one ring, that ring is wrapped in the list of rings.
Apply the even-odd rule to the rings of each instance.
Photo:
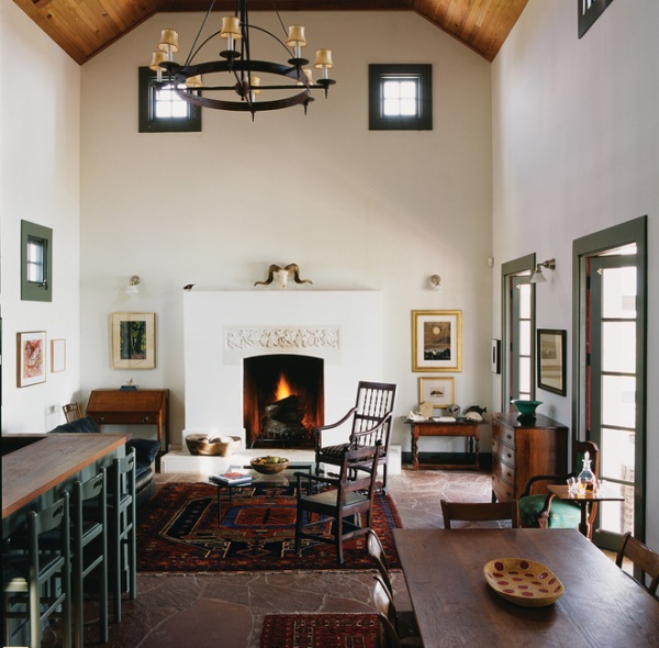
[[[139,68],[139,132],[200,132],[201,108],[181,99],[174,86],[154,88],[149,81],[155,78],[148,67]]]

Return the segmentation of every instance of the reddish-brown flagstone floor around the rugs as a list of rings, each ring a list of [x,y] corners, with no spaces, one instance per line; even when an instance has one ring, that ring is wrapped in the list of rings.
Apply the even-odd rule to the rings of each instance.
[[[202,476],[158,474],[157,483]],[[439,501],[490,501],[490,472],[403,470],[389,478],[405,528],[443,526]],[[409,610],[402,573],[394,572],[396,607]],[[137,599],[124,600],[122,623],[110,627],[108,648],[258,648],[263,618],[272,612],[372,611],[372,574],[219,573],[138,574]],[[86,624],[86,646],[98,645],[98,624]],[[57,646],[48,634],[43,646]]]

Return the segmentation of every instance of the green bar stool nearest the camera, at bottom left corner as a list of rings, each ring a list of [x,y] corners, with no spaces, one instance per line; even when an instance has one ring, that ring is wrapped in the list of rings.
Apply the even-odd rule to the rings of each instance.
[[[47,537],[47,540],[45,539]],[[16,533],[2,555],[4,646],[18,630],[12,619],[29,621],[30,648],[42,645],[43,627],[60,616],[63,646],[71,646],[69,495],[27,513],[26,535]],[[18,637],[16,637],[18,638]],[[24,640],[19,639],[21,646]]]

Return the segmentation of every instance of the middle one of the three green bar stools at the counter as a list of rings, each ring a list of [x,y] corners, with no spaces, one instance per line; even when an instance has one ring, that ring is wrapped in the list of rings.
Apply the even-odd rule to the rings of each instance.
[[[82,648],[85,579],[98,572],[99,638],[108,643],[108,499],[105,469],[85,482],[74,483],[71,499],[71,554],[74,628],[76,647]]]

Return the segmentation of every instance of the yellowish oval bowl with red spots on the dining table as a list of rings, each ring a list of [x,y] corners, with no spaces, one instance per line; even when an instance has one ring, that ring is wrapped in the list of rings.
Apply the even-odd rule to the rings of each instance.
[[[483,567],[488,584],[503,599],[524,607],[551,605],[563,584],[544,565],[524,558],[498,558]]]

